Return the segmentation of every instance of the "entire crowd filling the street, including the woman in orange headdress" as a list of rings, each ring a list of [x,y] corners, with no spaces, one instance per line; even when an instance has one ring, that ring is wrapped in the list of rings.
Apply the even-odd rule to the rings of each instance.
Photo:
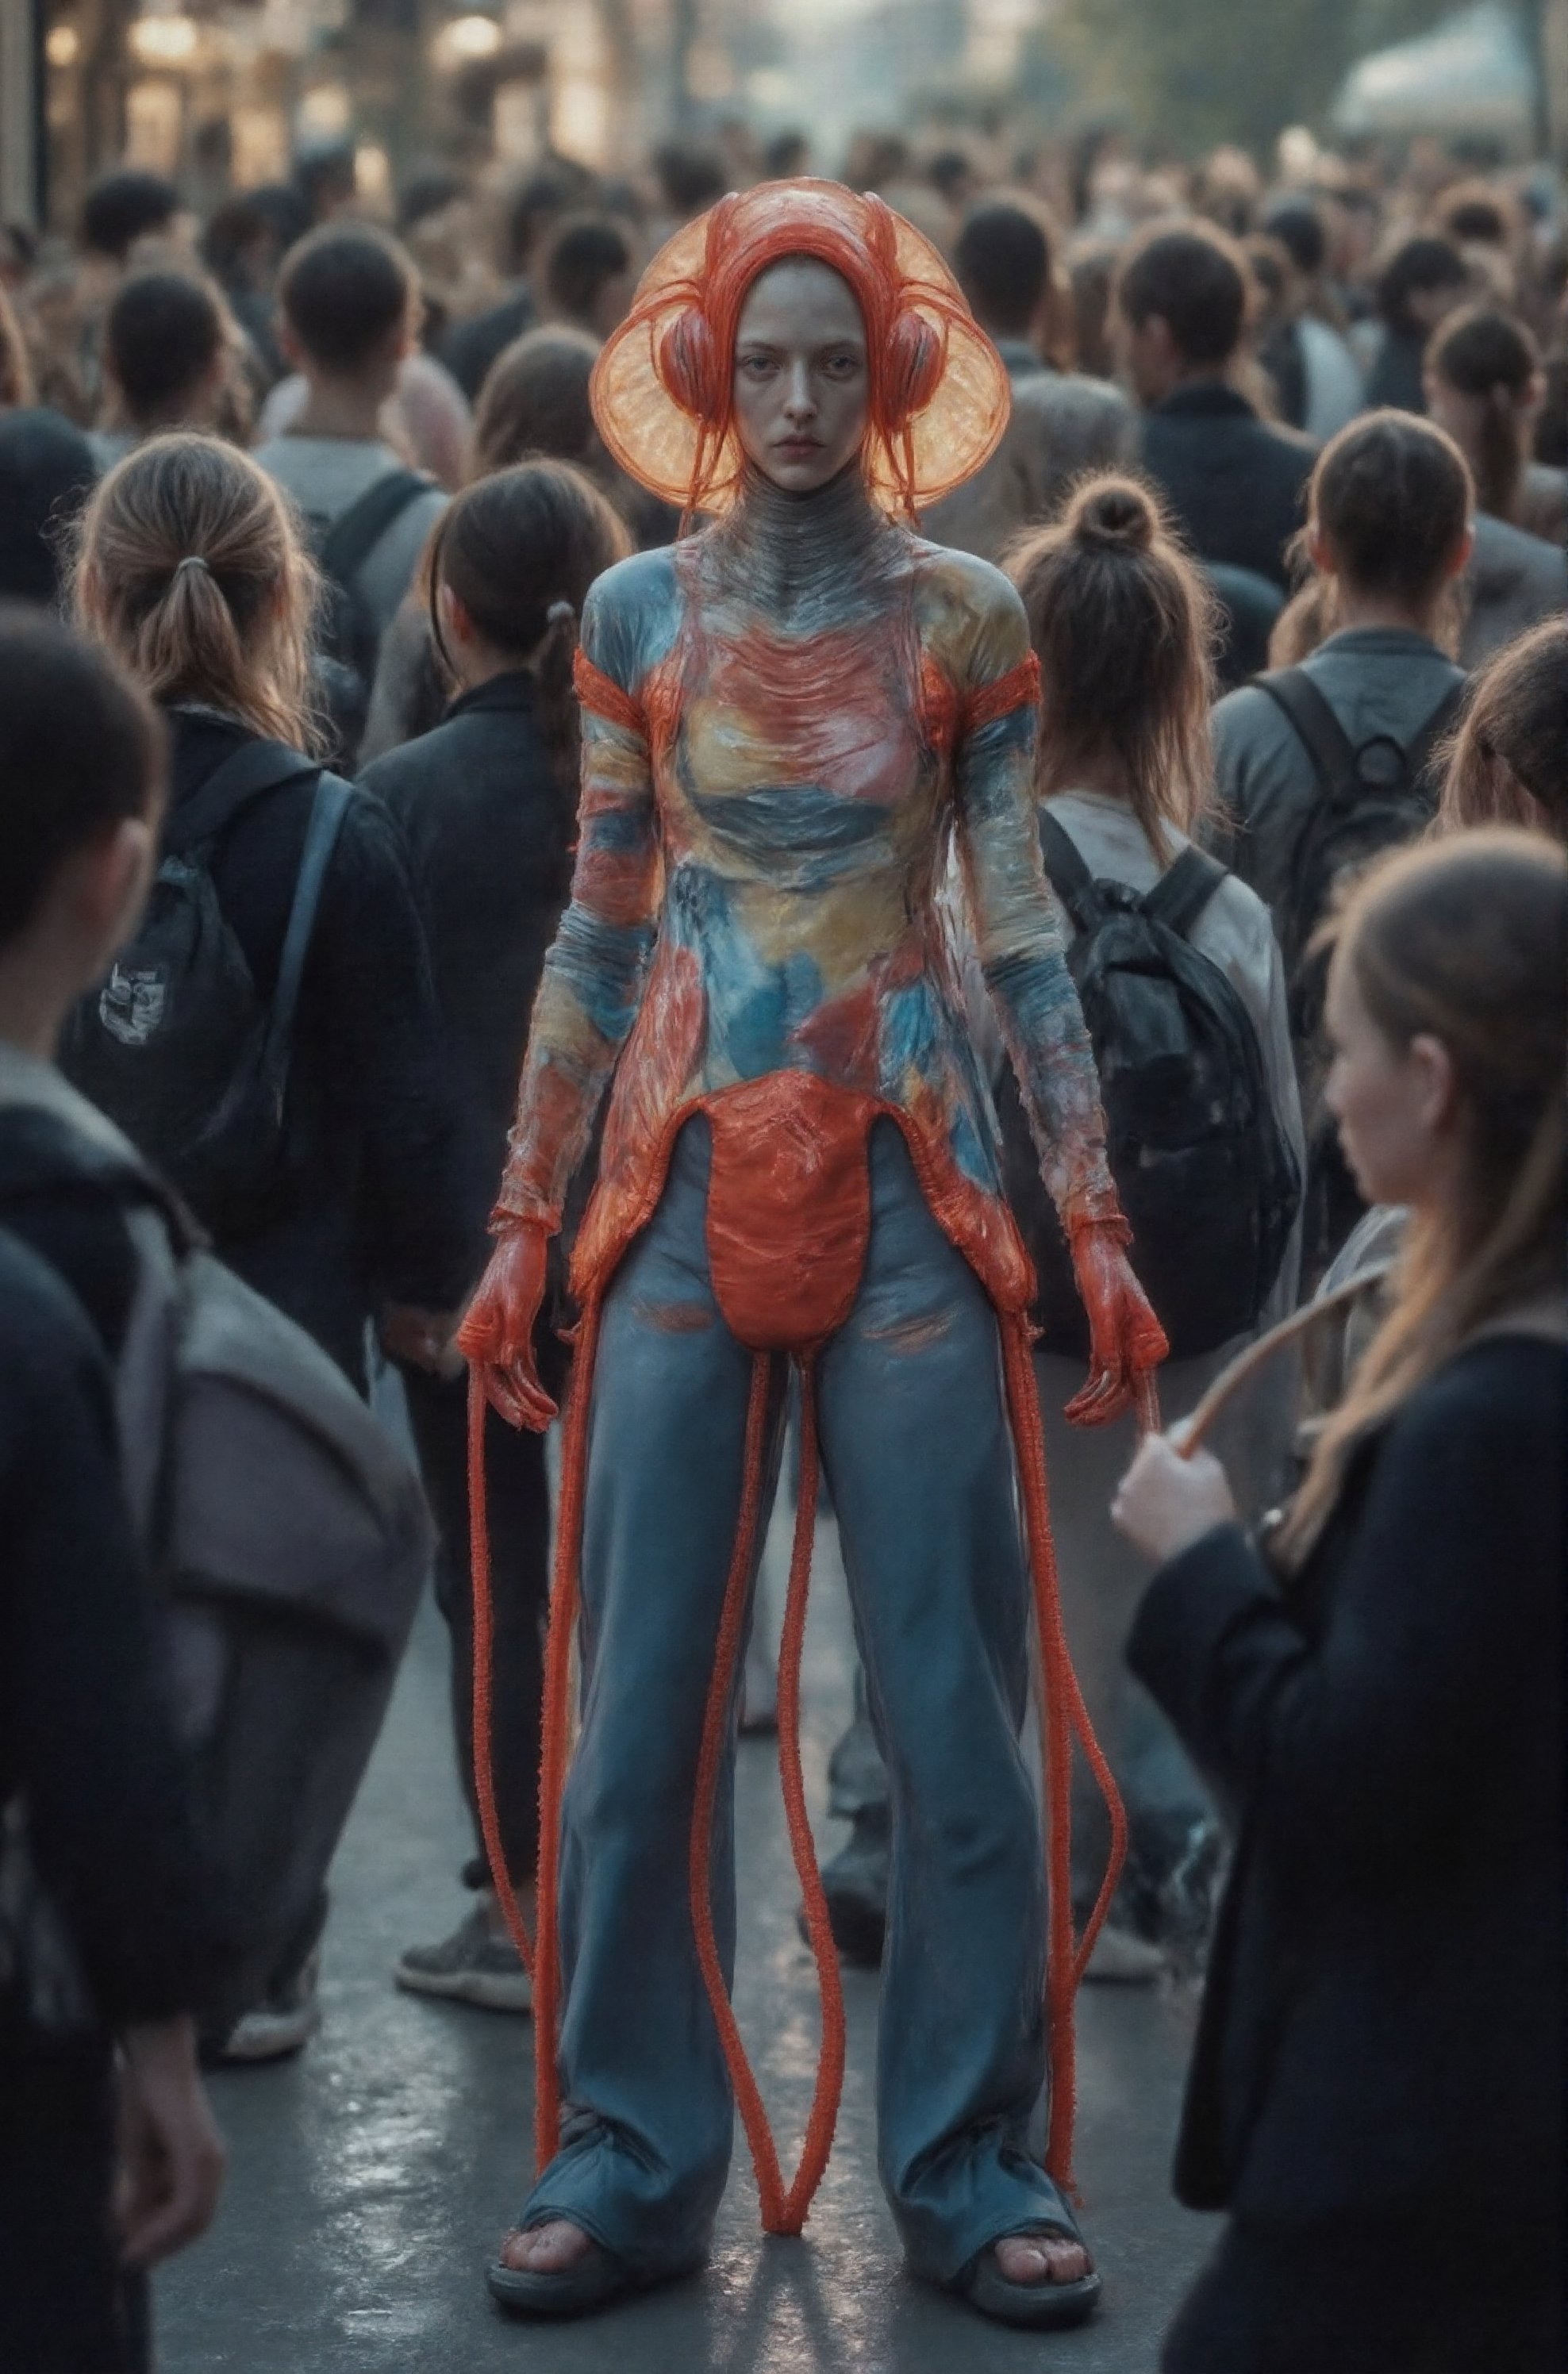
[[[820,1424],[867,1671],[832,1764],[848,1842],[803,1923],[884,1966],[884,2179],[915,2270],[1014,2324],[1093,2310],[1057,2151],[1069,1899],[1090,1982],[1207,1961],[1176,2186],[1231,2224],[1171,2374],[1558,2367],[1568,204],[1425,147],[1283,166],[865,138],[865,211],[767,247],[770,190],[810,157],[736,135],[625,178],[549,159],[508,192],[421,173],[394,228],[325,157],[202,226],[116,171],[69,252],[0,233],[7,2362],[150,2365],[145,2270],[221,2184],[197,2061],[295,2054],[321,2018],[325,1864],[247,1999],[223,1985],[238,1875],[169,1719],[197,1683],[159,1650],[157,1512],[116,1474],[147,1268],[204,1246],[309,1339],[278,1353],[302,1403],[402,1384],[475,1852],[468,1911],[394,1978],[539,1997],[546,2101],[558,1951],[568,2106],[599,2120],[551,2163],[542,2113],[504,2305],[580,2312],[706,2246],[734,2056],[701,2042],[653,2082],[615,1987],[632,1935],[668,1932],[639,2018],[658,1999],[696,2035],[732,1951],[722,1873],[706,1954],[687,1904],[717,1595],[741,1507],[767,1600],[758,1491],[782,1429],[815,1462]],[[874,202],[946,309],[941,361],[929,323],[931,351],[905,332],[903,411],[874,342],[910,316],[877,328],[874,304],[912,247],[886,261]],[[722,242],[744,254],[753,216],[746,280]],[[665,252],[717,363],[639,294]],[[729,313],[703,313],[720,285]],[[943,477],[941,439],[917,461],[905,430],[974,325],[965,401],[979,418],[991,370],[995,420],[948,394],[974,465]],[[627,425],[637,366],[594,370],[644,351]],[[651,461],[656,399],[701,434]],[[924,541],[889,541],[917,494]],[[867,684],[900,636],[912,688],[884,715]],[[955,845],[912,800],[919,888],[893,897],[879,845],[824,812],[846,786],[860,814],[903,798],[900,769],[946,786]],[[881,947],[889,900],[905,938]],[[896,1071],[867,1033],[898,1035]],[[753,1341],[703,1211],[713,1244],[746,1180],[727,1132],[774,1123],[722,1099],[803,1071],[879,1111],[865,1280],[810,1341]],[[1029,1325],[1003,1242],[1031,1261]],[[589,1714],[563,1809],[544,1427],[577,1303],[599,1470],[568,1427]],[[1024,1329],[1005,1405],[995,1313]],[[784,1351],[794,1401],[765,1375]],[[941,1474],[915,1474],[910,1410],[943,1427]],[[1033,1811],[998,1811],[1024,1790],[1041,1567],[1014,1460],[1026,1517],[1031,1460],[1050,1477],[1083,1714],[1071,1773],[1045,1726],[1045,1980]],[[929,1610],[922,1557],[946,1557]],[[689,1593],[679,1671],[653,1567],[660,1633]],[[972,1638],[943,1631],[950,1574]],[[734,1724],[772,1721],[772,1662],[748,1659]],[[1067,1688],[1045,1619],[1038,1664]],[[340,1759],[344,1811],[371,1738]],[[1128,1840],[1107,1904],[1095,1740]],[[946,1823],[915,1818],[927,1790]],[[943,2046],[950,2134],[922,2025],[943,1930],[991,1970]],[[1026,2151],[1048,2070],[1050,2172]],[[603,2172],[615,2115],[639,2184]]]

